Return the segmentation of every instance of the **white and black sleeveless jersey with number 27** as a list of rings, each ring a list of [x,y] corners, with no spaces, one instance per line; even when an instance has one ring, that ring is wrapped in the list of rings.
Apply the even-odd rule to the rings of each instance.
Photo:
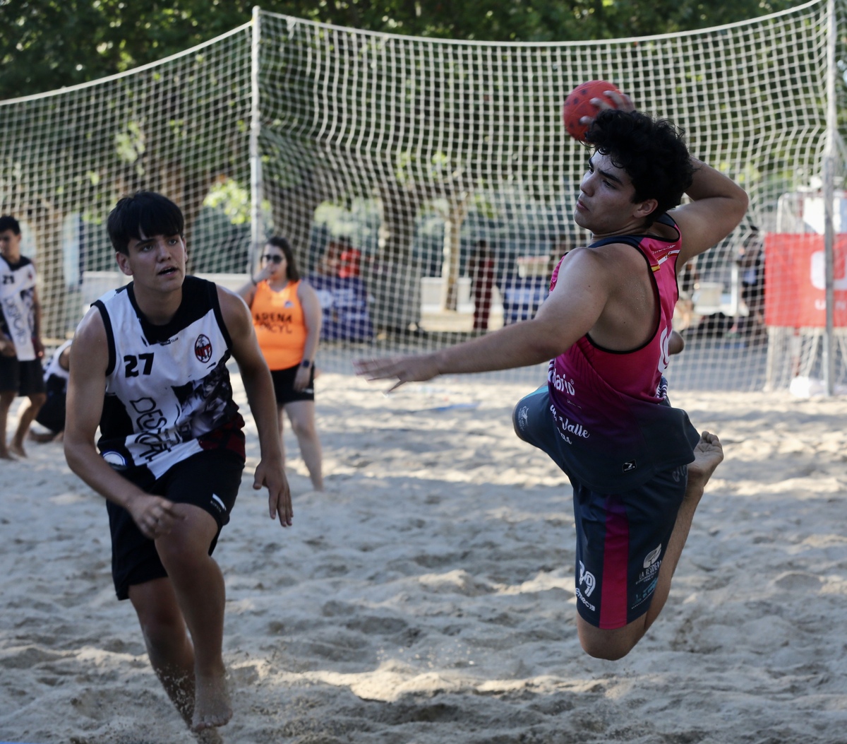
[[[226,369],[230,335],[213,282],[186,276],[167,325],[141,314],[132,284],[94,305],[108,338],[97,442],[103,459],[135,480],[139,469],[159,478],[202,450],[224,447],[244,457],[244,420]]]

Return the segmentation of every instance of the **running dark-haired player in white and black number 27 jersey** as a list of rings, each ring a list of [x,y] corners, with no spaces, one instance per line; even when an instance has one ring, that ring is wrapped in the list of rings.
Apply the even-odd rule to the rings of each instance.
[[[180,208],[154,192],[108,217],[132,282],[94,303],[71,347],[64,451],[107,500],[119,599],[136,610],[153,669],[202,741],[232,715],[222,657],[224,579],[211,554],[244,468],[227,360],[256,420],[271,519],[291,525],[274,387],[246,305],[185,275]],[[95,443],[97,427],[101,436]]]

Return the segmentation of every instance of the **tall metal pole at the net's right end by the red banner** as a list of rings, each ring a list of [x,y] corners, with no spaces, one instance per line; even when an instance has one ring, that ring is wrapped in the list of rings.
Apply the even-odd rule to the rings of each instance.
[[[835,43],[838,34],[835,0],[827,2],[827,138],[823,149],[823,250],[827,297],[827,321],[823,333],[823,387],[825,394],[835,393],[835,289],[834,253],[835,224],[833,204],[835,197],[835,167],[838,157],[838,112],[835,100]]]

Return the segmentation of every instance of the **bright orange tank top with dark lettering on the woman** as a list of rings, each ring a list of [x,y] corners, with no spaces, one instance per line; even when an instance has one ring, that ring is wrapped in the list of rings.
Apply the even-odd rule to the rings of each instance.
[[[306,347],[306,323],[297,297],[299,281],[290,281],[274,291],[267,281],[256,286],[250,310],[259,348],[270,369],[288,369],[300,364]]]

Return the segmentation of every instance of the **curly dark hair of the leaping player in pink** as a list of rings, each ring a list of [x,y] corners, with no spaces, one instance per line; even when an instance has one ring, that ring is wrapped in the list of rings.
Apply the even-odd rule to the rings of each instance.
[[[647,217],[651,225],[678,206],[694,178],[684,135],[667,119],[611,108],[597,114],[585,141],[627,172],[635,188],[634,202],[656,199],[658,204]]]

